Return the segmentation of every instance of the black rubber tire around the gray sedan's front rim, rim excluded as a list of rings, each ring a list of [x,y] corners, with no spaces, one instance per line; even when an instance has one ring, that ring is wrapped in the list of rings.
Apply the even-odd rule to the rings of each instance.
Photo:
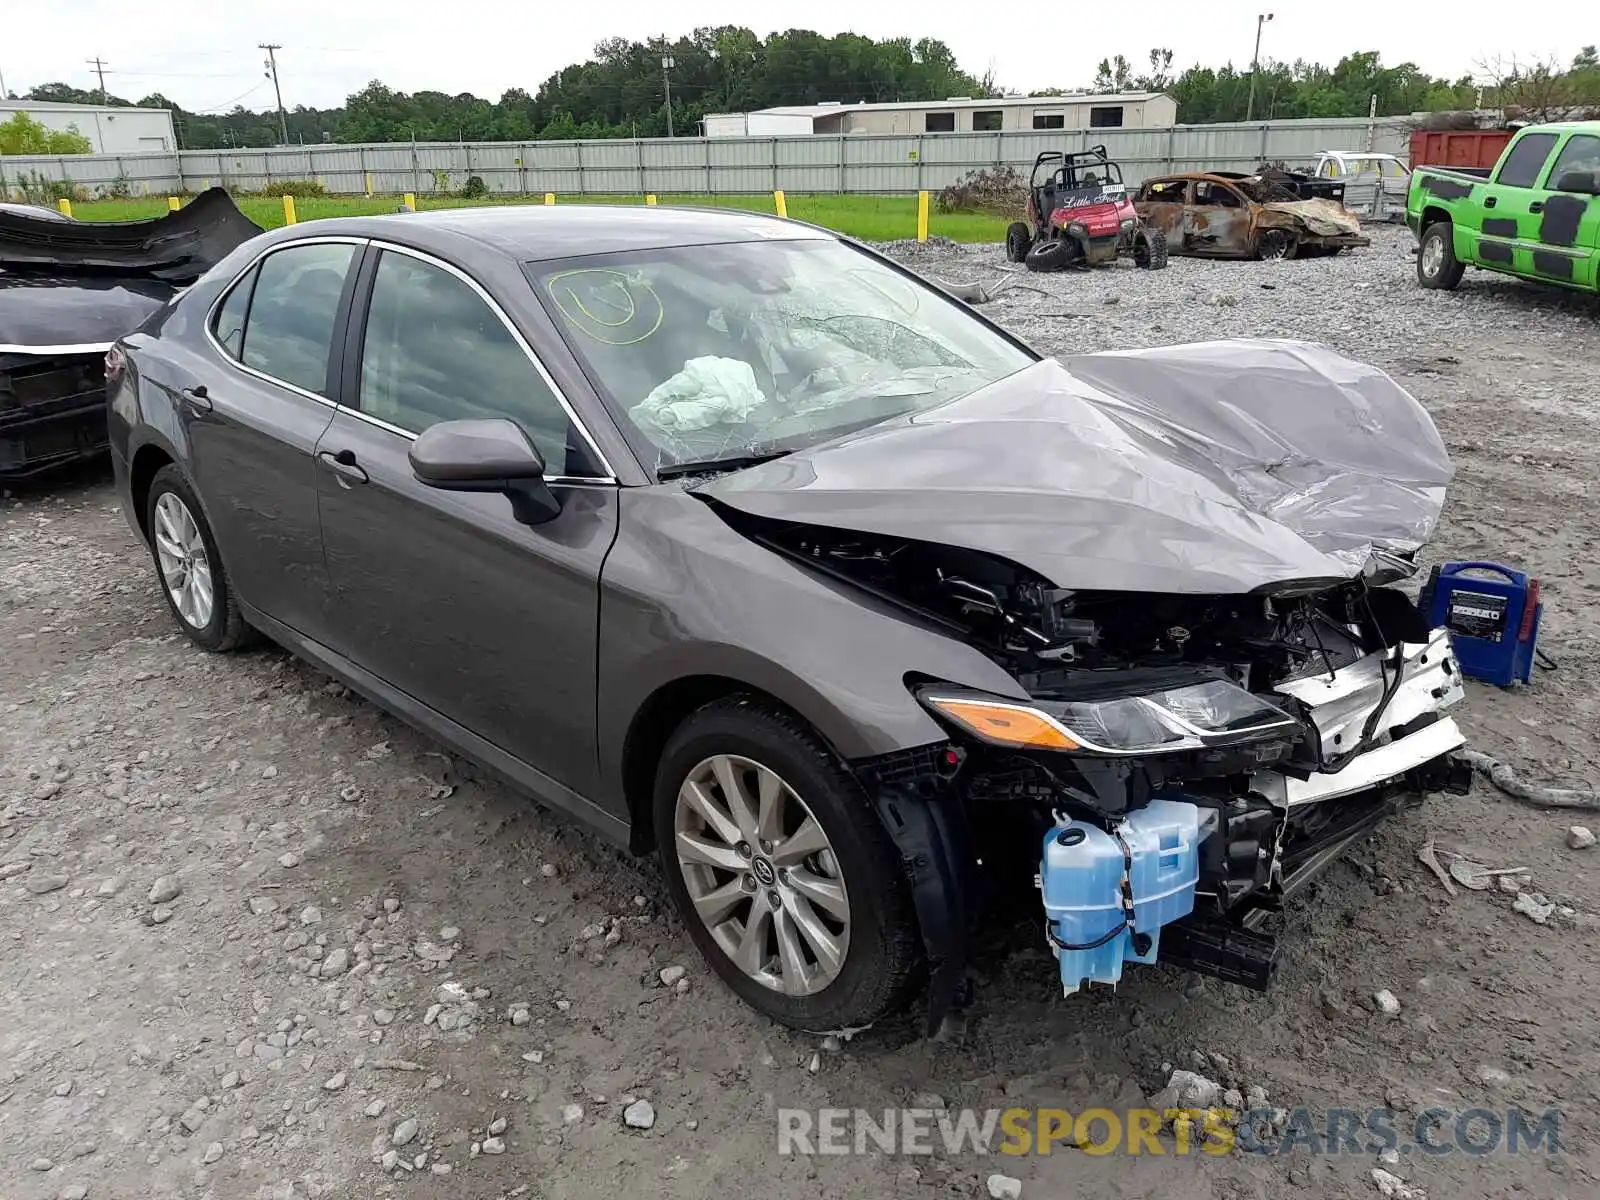
[[[694,910],[675,850],[678,789],[714,755],[738,755],[774,771],[832,843],[848,893],[850,941],[838,974],[816,992],[786,995],[746,974]],[[662,750],[654,822],[672,902],[706,962],[747,1005],[781,1024],[827,1032],[869,1026],[904,1003],[922,942],[899,853],[856,779],[800,720],[746,696],[694,712]]]

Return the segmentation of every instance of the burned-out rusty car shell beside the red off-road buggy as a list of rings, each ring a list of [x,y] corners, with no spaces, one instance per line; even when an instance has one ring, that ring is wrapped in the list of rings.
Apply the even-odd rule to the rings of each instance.
[[[1182,200],[1157,202],[1157,186],[1182,186]],[[1202,186],[1226,190],[1238,205],[1208,205],[1198,198]],[[1261,181],[1254,187],[1269,187]],[[1349,246],[1371,245],[1360,232],[1360,221],[1333,200],[1258,200],[1250,178],[1234,179],[1205,171],[1165,174],[1139,186],[1134,208],[1146,224],[1166,235],[1173,254],[1195,258],[1294,258],[1338,253]],[[1317,232],[1307,221],[1341,226],[1339,232]]]

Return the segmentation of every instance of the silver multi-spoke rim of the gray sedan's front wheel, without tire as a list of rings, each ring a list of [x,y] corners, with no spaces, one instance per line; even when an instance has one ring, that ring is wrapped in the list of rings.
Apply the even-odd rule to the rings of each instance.
[[[784,995],[838,978],[850,894],[832,842],[776,771],[704,758],[678,787],[674,845],[696,915],[746,976]]]

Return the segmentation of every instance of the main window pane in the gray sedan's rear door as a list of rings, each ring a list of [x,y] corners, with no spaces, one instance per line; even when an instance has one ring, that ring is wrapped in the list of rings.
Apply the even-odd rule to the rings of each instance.
[[[264,258],[256,269],[240,362],[282,382],[330,395],[333,330],[355,251],[347,242],[318,242]]]

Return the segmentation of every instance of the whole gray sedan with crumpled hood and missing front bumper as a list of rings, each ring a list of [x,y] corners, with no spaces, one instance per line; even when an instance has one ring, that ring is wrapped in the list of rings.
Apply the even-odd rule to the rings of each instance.
[[[659,851],[797,1027],[936,1021],[1035,877],[1069,994],[1266,987],[1294,893],[1469,781],[1392,587],[1450,461],[1323,347],[1054,362],[808,226],[486,208],[256,238],[107,379],[190,638]]]

